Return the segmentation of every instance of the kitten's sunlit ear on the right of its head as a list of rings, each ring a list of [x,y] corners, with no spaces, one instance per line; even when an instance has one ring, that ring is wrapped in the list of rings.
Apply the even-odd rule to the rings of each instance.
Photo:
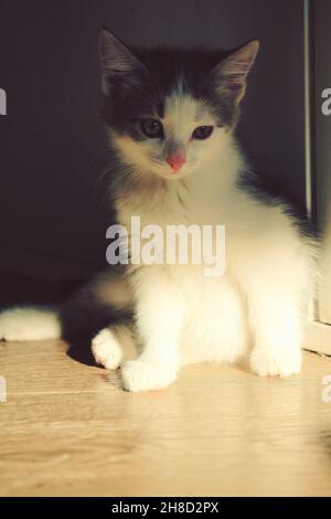
[[[247,74],[255,62],[259,41],[254,40],[233,52],[216,65],[212,72],[214,87],[220,95],[225,95],[239,103],[245,95]]]

